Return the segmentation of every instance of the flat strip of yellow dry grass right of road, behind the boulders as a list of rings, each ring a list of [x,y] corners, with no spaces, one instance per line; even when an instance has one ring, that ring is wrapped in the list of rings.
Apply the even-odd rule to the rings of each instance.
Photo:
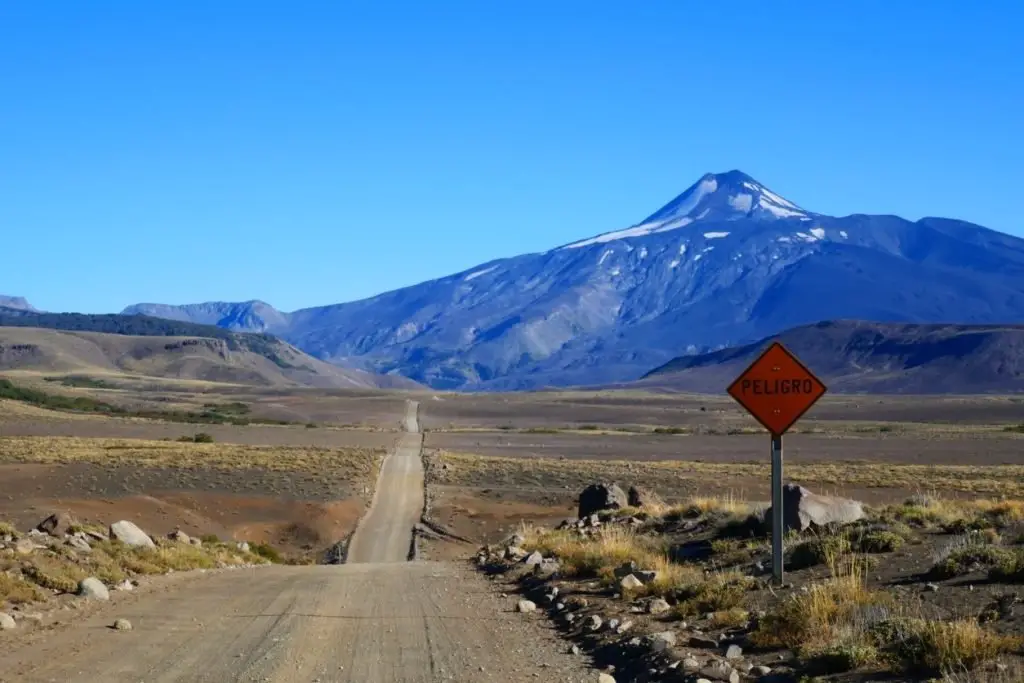
[[[709,481],[733,477],[764,477],[767,462],[712,463],[695,461],[636,462],[629,460],[558,460],[554,458],[502,458],[440,452],[450,465],[444,483],[474,485],[479,480],[525,485],[539,476],[571,482],[608,479],[656,487],[673,481],[706,488]],[[900,465],[873,462],[793,463],[786,476],[808,486],[900,488],[914,490],[927,481],[936,490],[989,498],[1024,499],[1024,466]]]

